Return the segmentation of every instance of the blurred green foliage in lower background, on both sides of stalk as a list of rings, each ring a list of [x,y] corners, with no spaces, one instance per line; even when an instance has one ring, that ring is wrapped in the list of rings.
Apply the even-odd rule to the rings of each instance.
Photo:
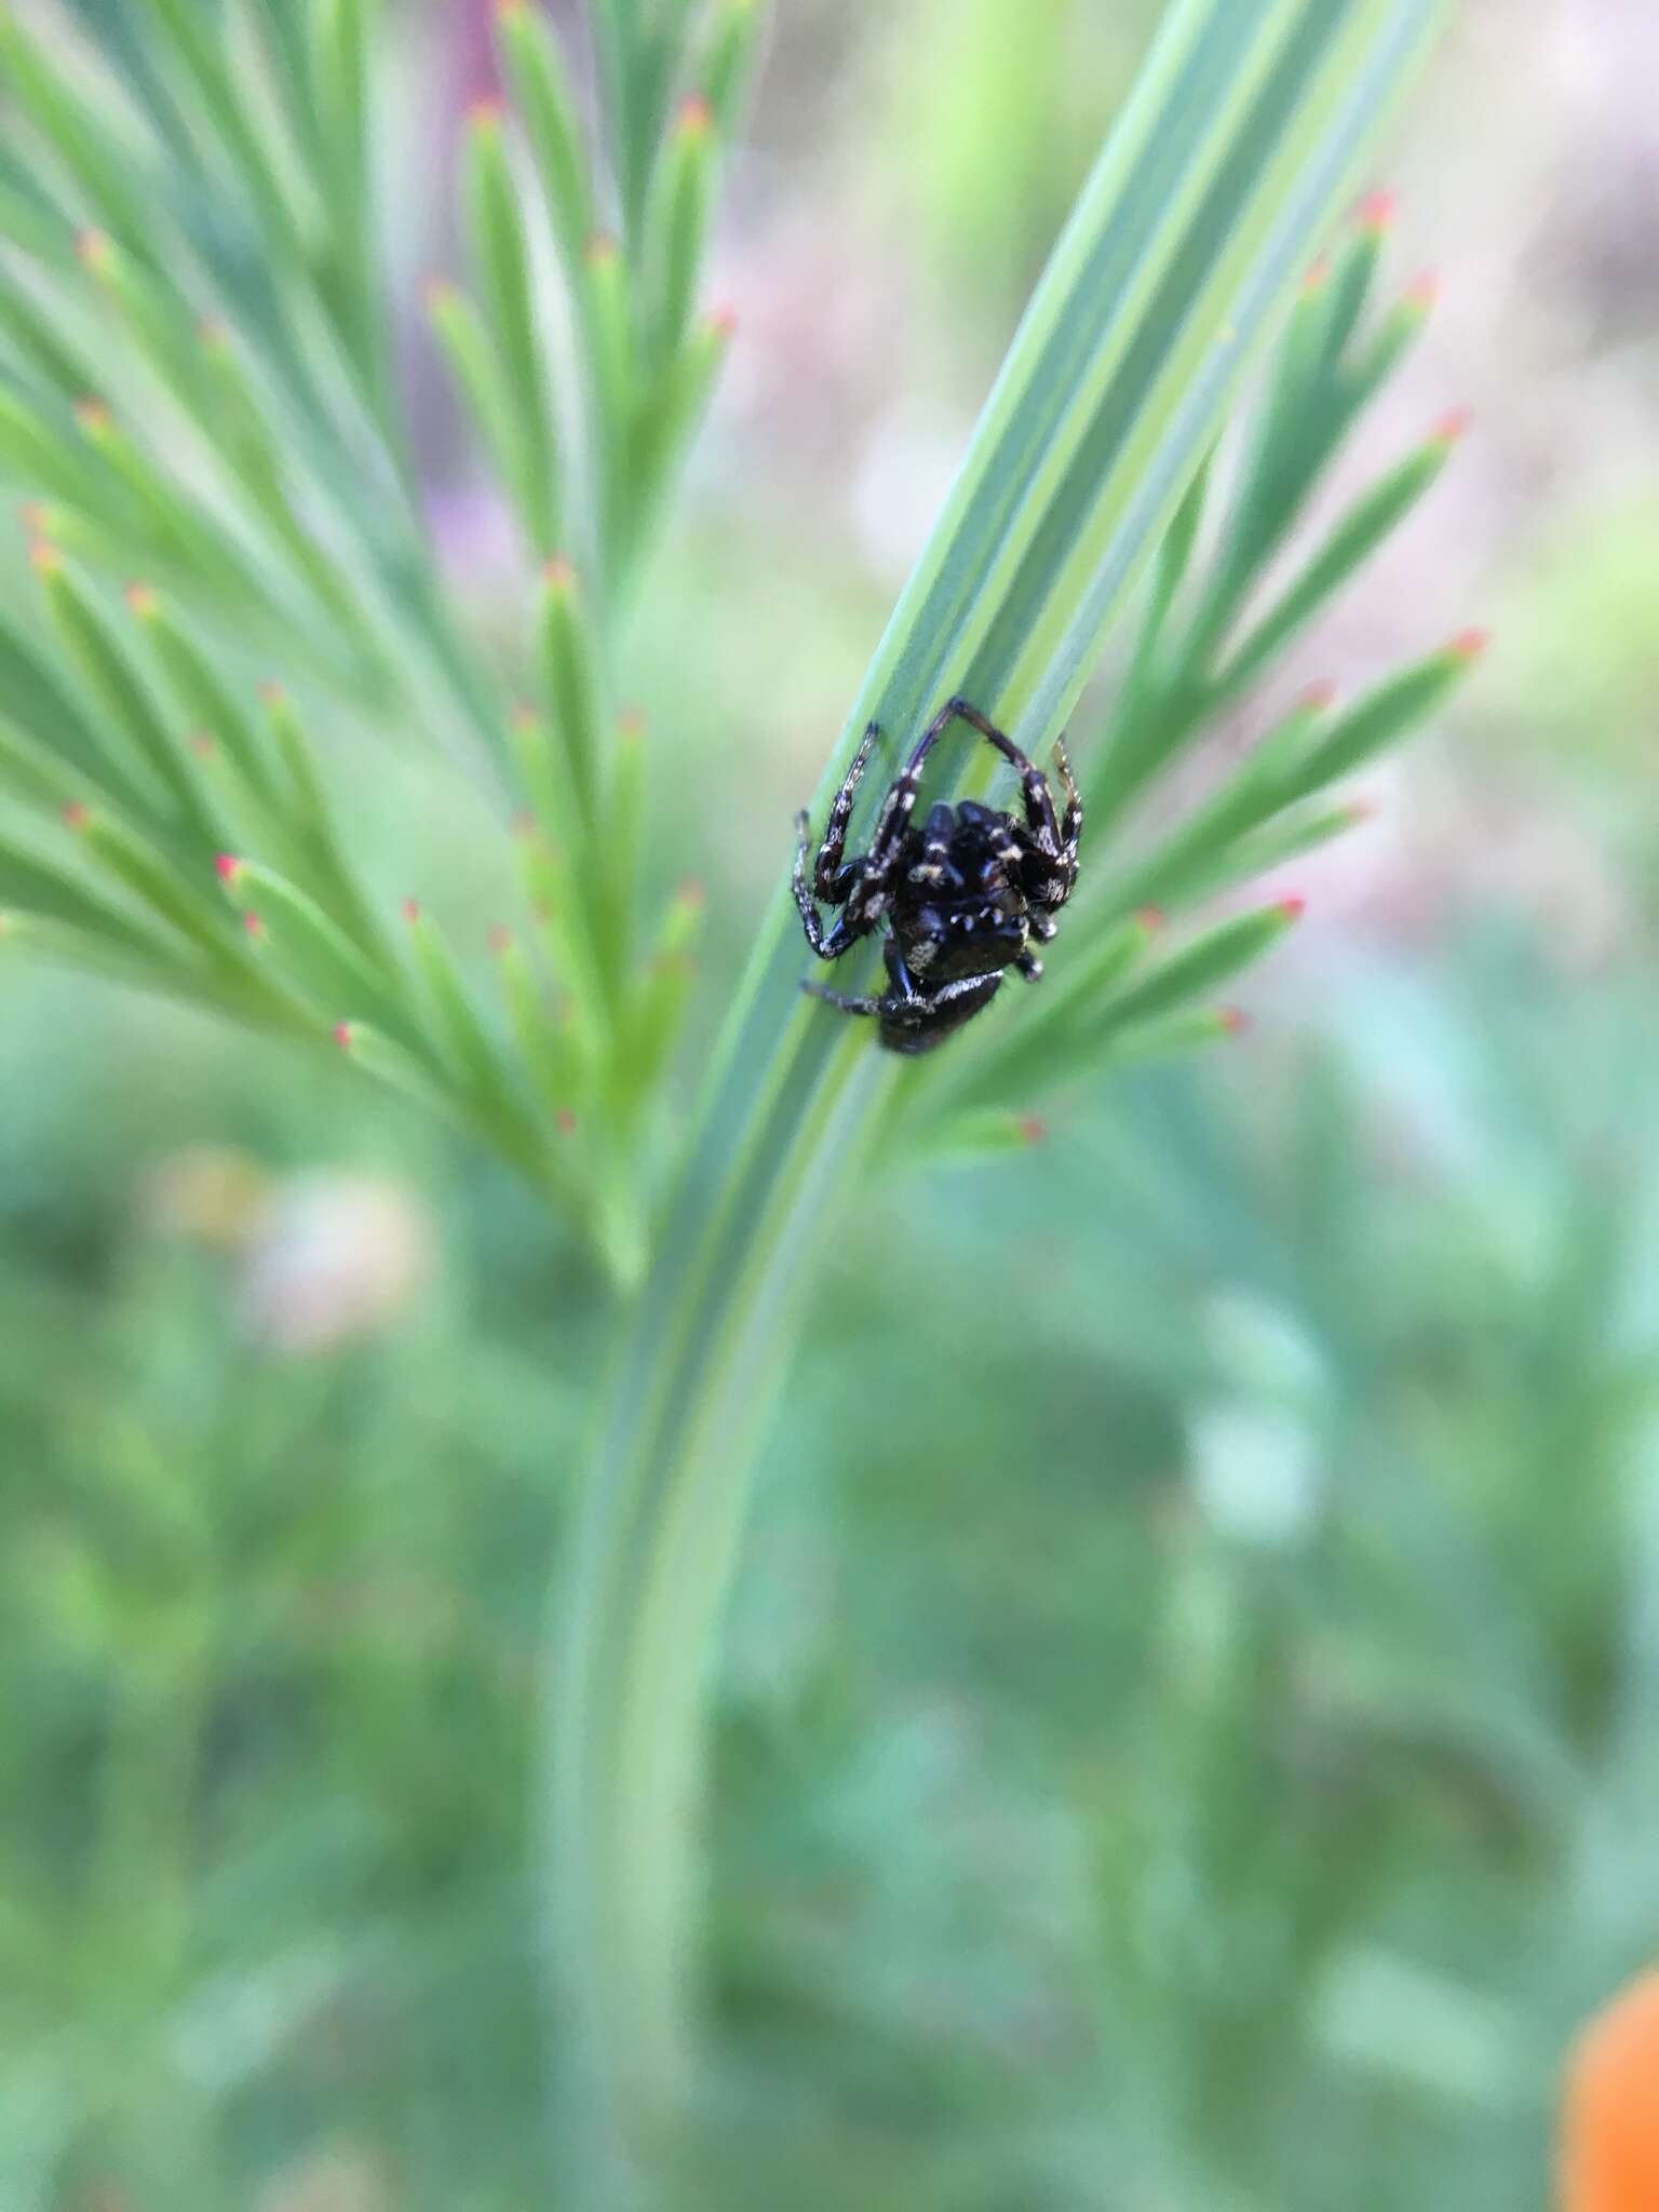
[[[1374,1068],[1126,1075],[845,1223],[728,1663],[690,2201],[1544,2203],[1555,2051],[1659,1927],[1659,1062],[1517,942],[1352,980]],[[345,2205],[540,2201],[591,1290],[345,1084],[11,1006],[4,2201],[310,2203],[321,2152]],[[206,1130],[400,1157],[438,1285],[261,1352],[144,1201]]]

